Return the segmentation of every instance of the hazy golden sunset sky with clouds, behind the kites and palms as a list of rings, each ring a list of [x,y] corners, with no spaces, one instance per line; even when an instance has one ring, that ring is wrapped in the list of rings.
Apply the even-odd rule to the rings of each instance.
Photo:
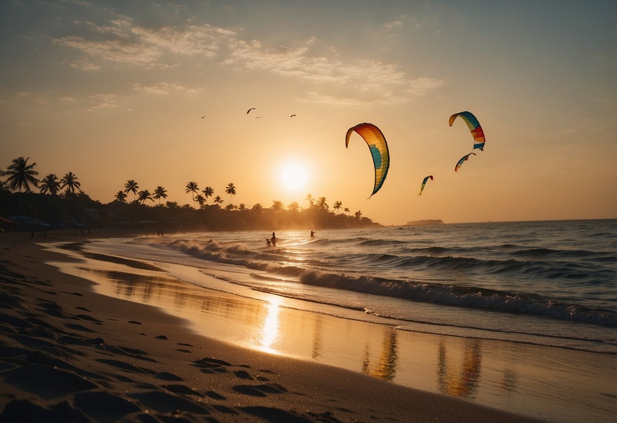
[[[135,179],[386,225],[617,218],[615,22],[613,0],[6,0],[0,169],[30,157],[102,203]],[[455,172],[464,110],[486,144]],[[344,142],[363,122],[390,152],[372,197],[368,146]]]

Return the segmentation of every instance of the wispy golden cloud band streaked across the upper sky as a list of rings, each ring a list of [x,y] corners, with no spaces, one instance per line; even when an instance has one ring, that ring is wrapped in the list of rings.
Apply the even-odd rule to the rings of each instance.
[[[319,47],[314,37],[296,46],[271,46],[257,39],[247,41],[236,31],[207,23],[145,28],[123,16],[105,25],[77,23],[91,36],[69,35],[54,42],[85,54],[71,63],[81,70],[98,70],[102,62],[169,69],[179,67],[182,57],[196,57],[247,72],[267,72],[310,83],[313,91],[328,92],[316,101],[327,99],[333,104],[400,104],[444,84],[439,79],[410,78],[397,64],[342,59],[333,47]],[[395,20],[386,27],[400,25],[403,22]],[[176,90],[164,83],[139,84],[133,89],[154,94]]]

